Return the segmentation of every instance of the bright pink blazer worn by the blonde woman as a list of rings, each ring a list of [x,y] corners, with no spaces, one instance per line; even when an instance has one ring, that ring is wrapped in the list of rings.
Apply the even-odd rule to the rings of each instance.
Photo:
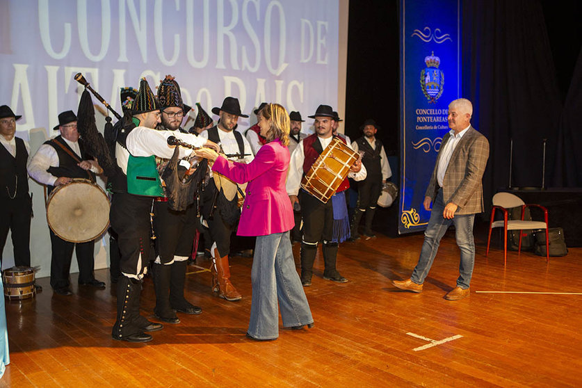
[[[249,182],[239,222],[239,236],[266,236],[287,232],[295,225],[291,201],[285,190],[289,151],[280,140],[262,146],[248,163],[219,156],[212,170],[236,183]]]

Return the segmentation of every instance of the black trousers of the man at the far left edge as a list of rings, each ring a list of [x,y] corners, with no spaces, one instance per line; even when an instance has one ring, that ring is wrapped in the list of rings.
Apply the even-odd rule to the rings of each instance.
[[[31,197],[25,195],[0,200],[0,266],[8,230],[12,232],[15,266],[31,266]]]

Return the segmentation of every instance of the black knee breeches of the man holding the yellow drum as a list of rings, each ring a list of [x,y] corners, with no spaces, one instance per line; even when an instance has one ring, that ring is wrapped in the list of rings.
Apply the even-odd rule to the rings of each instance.
[[[324,204],[313,195],[301,190],[299,203],[303,218],[303,241],[305,243],[332,241],[334,226],[332,200]]]

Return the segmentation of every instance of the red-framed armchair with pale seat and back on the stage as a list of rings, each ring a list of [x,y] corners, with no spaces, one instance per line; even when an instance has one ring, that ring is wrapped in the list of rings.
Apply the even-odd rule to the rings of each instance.
[[[522,207],[522,218],[520,220],[508,220],[508,210],[512,207]],[[537,207],[544,211],[544,222],[524,220],[526,207]],[[494,221],[496,211],[503,213],[503,220]],[[494,227],[503,227],[503,266],[507,264],[507,231],[519,230],[519,248],[517,254],[522,252],[522,231],[531,229],[546,230],[546,262],[549,262],[549,245],[548,245],[548,209],[538,204],[525,204],[517,195],[510,193],[497,193],[493,196],[493,208],[491,209],[491,219],[489,222],[489,237],[487,238],[487,253],[489,255],[489,245],[491,242],[491,231]]]

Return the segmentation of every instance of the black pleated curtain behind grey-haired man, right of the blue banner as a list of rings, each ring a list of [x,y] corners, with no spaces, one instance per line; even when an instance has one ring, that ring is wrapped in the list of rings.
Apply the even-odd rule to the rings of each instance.
[[[539,1],[462,3],[464,96],[474,103],[472,123],[490,141],[483,178],[486,204],[498,188],[542,186],[556,160],[562,104]],[[546,185],[547,186],[547,185]]]

